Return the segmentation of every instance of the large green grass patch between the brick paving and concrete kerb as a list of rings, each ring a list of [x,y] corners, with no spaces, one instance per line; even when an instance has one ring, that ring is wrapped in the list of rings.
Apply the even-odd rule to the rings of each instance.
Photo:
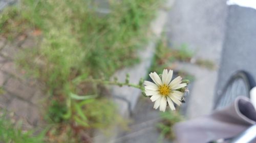
[[[86,79],[108,79],[139,62],[137,50],[150,38],[148,26],[159,5],[154,0],[114,0],[111,13],[100,15],[93,1],[24,0],[1,13],[2,36],[11,41],[32,31],[39,43],[24,49],[16,63],[46,85],[52,101],[46,119],[56,124],[48,133],[52,142],[77,129],[122,123],[103,85]]]

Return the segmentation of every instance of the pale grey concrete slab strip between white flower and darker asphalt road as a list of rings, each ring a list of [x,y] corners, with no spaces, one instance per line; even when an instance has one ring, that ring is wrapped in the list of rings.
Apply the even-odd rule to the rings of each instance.
[[[187,118],[195,118],[211,111],[218,65],[225,32],[225,1],[179,0],[169,12],[167,36],[173,48],[186,44],[195,52],[194,59],[207,59],[217,65],[215,70],[207,70],[195,64],[178,63],[177,69],[196,77],[187,105]]]

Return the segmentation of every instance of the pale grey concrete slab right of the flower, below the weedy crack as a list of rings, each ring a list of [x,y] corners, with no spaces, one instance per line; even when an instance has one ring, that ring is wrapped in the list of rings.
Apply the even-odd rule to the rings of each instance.
[[[208,70],[191,63],[177,62],[175,64],[177,65],[176,70],[186,71],[195,76],[192,88],[189,89],[188,100],[186,100],[185,116],[191,119],[208,114],[214,105],[217,71]]]

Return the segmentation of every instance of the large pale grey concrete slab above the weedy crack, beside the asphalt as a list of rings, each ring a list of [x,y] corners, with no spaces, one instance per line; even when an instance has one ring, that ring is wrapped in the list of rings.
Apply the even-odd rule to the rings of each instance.
[[[218,63],[226,15],[226,1],[175,1],[166,28],[170,45],[177,48],[186,44],[196,58]]]

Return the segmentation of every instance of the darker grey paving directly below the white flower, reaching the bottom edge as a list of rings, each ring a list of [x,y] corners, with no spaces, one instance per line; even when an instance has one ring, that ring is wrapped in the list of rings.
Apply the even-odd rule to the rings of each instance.
[[[157,124],[160,122],[160,111],[153,109],[154,103],[148,98],[140,98],[133,112],[130,131],[119,133],[114,142],[119,143],[167,143],[160,138]]]

